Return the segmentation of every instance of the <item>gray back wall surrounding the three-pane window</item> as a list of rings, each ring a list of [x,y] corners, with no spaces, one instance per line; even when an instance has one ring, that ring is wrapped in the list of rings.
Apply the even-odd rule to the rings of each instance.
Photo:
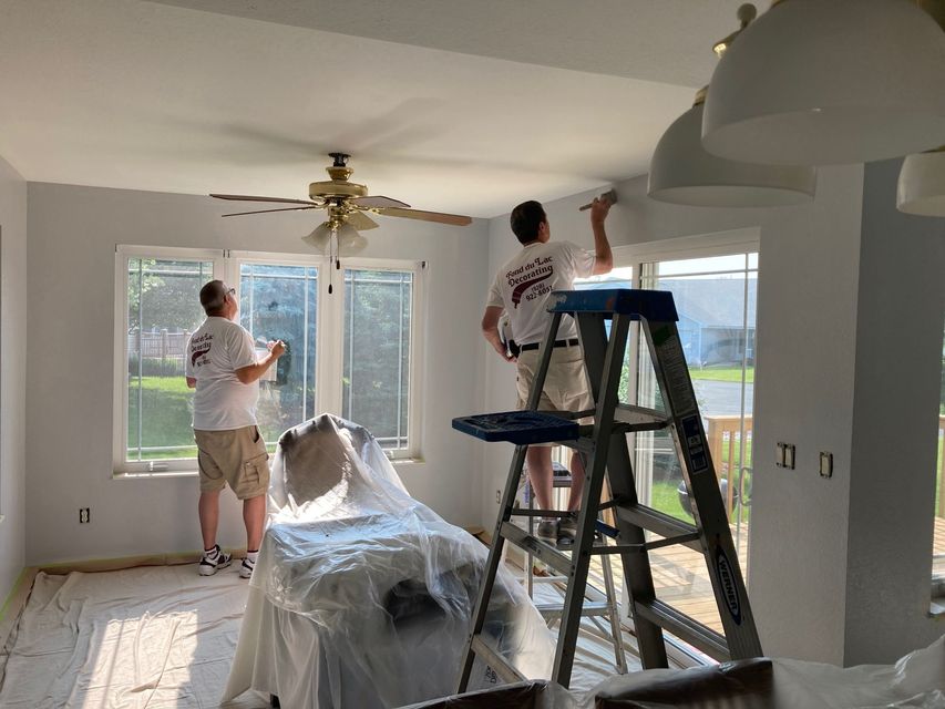
[[[28,561],[196,549],[196,477],[112,479],[115,245],[309,253],[299,237],[314,218],[222,219],[222,204],[207,197],[38,183],[29,185],[29,210]],[[476,333],[456,323],[479,317],[486,224],[386,219],[369,236],[366,257],[429,261],[419,402],[425,462],[399,472],[444,517],[475,524],[473,443],[452,435],[450,420],[481,407]],[[238,507],[232,495],[225,501],[220,543],[243,545]],[[79,525],[80,506],[92,507],[91,524]]]

